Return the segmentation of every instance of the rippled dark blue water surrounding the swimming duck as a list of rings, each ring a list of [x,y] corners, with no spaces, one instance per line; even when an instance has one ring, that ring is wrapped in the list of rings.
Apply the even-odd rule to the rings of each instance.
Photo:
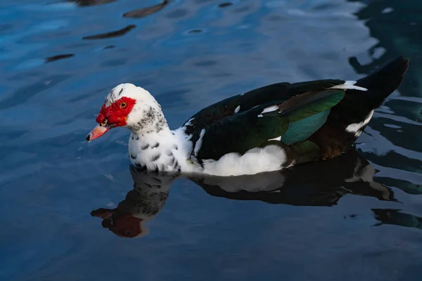
[[[418,0],[1,1],[0,280],[420,280],[420,11]],[[278,192],[177,179],[143,237],[91,216],[134,185],[128,131],[84,141],[115,85],[148,89],[177,127],[258,86],[358,79],[399,54],[411,67],[358,139],[362,159],[314,164],[287,176],[309,182]],[[385,186],[341,188],[365,159]]]

